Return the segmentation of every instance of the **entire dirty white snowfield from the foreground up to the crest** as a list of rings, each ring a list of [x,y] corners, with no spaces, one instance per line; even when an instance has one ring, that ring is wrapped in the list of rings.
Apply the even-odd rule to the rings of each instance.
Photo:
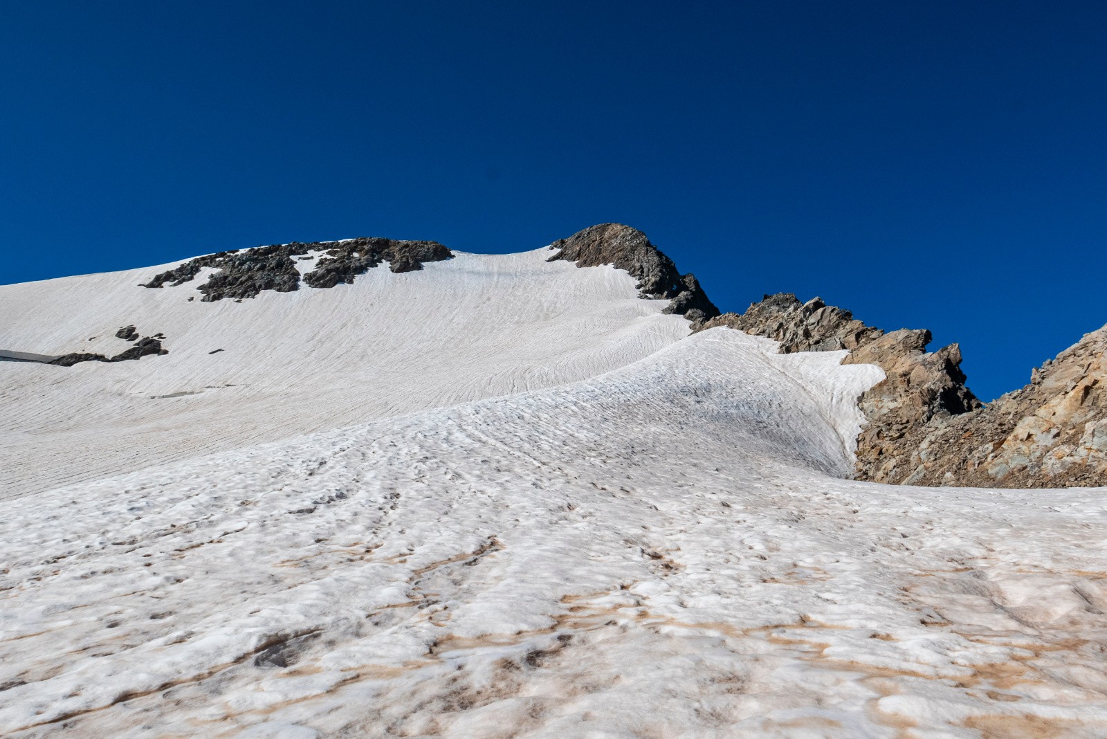
[[[547,254],[0,288],[170,351],[0,364],[0,736],[1107,733],[1103,489],[842,479],[880,370]]]

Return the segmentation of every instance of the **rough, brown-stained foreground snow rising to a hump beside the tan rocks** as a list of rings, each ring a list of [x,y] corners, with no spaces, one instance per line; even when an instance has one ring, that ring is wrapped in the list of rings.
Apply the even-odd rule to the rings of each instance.
[[[0,733],[1103,736],[1103,491],[836,479],[881,373],[775,351],[11,501]]]

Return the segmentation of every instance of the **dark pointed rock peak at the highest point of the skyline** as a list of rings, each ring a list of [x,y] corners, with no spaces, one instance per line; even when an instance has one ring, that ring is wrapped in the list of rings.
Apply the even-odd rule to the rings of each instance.
[[[645,233],[621,223],[600,223],[550,244],[558,252],[547,261],[566,260],[577,267],[611,264],[638,280],[641,298],[668,299],[663,311],[683,315],[693,324],[718,315],[692,273],[681,274]]]

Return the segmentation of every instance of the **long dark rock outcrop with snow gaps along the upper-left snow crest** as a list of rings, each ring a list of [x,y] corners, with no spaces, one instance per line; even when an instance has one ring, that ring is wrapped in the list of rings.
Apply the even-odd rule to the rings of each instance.
[[[189,282],[205,267],[218,270],[197,290],[201,301],[213,302],[230,298],[256,298],[263,290],[292,292],[300,289],[300,271],[294,258],[312,251],[323,251],[315,269],[303,275],[312,288],[333,288],[353,282],[382,261],[387,261],[393,272],[423,269],[423,262],[442,261],[453,252],[437,241],[396,241],[382,238],[358,238],[344,241],[313,241],[310,243],[270,244],[254,249],[220,251],[189,259],[172,270],[154,277],[145,288],[177,287]],[[189,299],[192,300],[192,299]]]

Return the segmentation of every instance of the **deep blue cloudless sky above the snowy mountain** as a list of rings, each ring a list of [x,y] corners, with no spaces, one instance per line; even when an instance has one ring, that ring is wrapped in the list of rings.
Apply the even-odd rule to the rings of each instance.
[[[1107,3],[3,4],[0,283],[603,221],[990,399],[1107,322]]]

